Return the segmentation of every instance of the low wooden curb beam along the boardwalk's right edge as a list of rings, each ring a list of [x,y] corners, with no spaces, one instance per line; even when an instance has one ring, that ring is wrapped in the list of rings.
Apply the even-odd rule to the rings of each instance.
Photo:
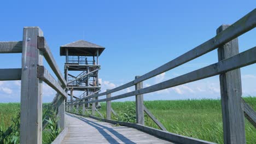
[[[152,135],[161,137],[163,139],[178,142],[178,143],[184,143],[184,144],[187,144],[187,143],[188,144],[199,144],[199,143],[213,144],[213,142],[208,142],[208,141],[204,141],[204,140],[194,139],[194,138],[188,137],[188,136],[173,134],[173,133],[170,133],[168,131],[150,128],[150,127],[147,127],[147,126],[141,125],[141,124],[113,121],[113,120],[110,120],[110,119],[103,119],[103,118],[99,118],[99,117],[95,117],[95,116],[89,116],[89,117],[97,119],[98,121],[102,121],[102,122],[108,122],[108,123],[112,123],[112,124],[119,124],[119,125],[124,125],[126,127],[135,128],[135,129],[144,131],[148,134],[152,134]]]

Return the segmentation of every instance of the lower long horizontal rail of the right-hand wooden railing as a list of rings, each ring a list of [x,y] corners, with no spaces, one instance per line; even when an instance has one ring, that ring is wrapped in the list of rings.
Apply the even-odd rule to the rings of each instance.
[[[256,47],[253,47],[252,49],[241,52],[236,56],[232,56],[230,58],[224,59],[223,61],[219,61],[218,63],[208,65],[207,67],[197,69],[195,71],[175,77],[173,79],[170,79],[170,80],[167,80],[164,82],[160,82],[153,86],[142,88],[142,89],[139,89],[138,91],[132,91],[132,92],[125,93],[125,94],[120,94],[115,97],[111,97],[111,98],[107,98],[107,99],[100,99],[97,101],[92,100],[92,101],[89,101],[86,103],[95,103],[95,102],[102,102],[102,101],[107,101],[107,100],[127,98],[127,97],[131,97],[133,95],[160,91],[162,89],[179,86],[184,83],[205,79],[207,77],[225,73],[226,71],[234,70],[237,68],[245,67],[247,65],[256,63],[255,55],[256,55]]]

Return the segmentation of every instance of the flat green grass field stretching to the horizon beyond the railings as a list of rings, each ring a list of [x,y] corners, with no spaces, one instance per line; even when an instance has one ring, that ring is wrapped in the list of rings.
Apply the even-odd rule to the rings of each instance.
[[[256,110],[256,97],[245,98],[246,102]],[[106,117],[106,103],[101,103],[100,112]],[[158,100],[144,101],[144,105],[164,124],[172,133],[195,137],[197,139],[223,143],[222,113],[220,100]],[[133,101],[113,102],[112,108],[118,113],[118,117],[112,115],[112,119],[135,115],[135,103]],[[12,124],[11,118],[16,117],[20,104],[0,104],[0,127],[7,129]],[[127,110],[130,113],[127,113]],[[158,128],[157,125],[145,114],[146,125]],[[129,117],[130,118],[130,117]],[[127,121],[127,118],[125,119]],[[134,122],[134,118],[129,119]],[[256,129],[246,121],[247,143],[255,143]],[[47,132],[43,132],[44,143],[50,143]]]

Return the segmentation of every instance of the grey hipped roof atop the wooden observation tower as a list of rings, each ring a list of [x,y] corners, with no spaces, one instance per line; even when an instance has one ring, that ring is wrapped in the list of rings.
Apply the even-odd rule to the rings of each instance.
[[[60,46],[60,55],[66,56],[65,49],[68,49],[69,56],[98,56],[104,51],[105,47],[90,43],[85,40],[74,41],[66,45]]]

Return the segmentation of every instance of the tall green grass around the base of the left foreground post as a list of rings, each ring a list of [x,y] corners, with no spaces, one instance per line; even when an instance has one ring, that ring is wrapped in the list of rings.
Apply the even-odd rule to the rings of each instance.
[[[0,103],[0,143],[19,143],[19,114],[20,103]],[[49,121],[43,130],[43,143],[48,144],[60,133],[56,113],[49,104],[43,104],[43,119]]]

